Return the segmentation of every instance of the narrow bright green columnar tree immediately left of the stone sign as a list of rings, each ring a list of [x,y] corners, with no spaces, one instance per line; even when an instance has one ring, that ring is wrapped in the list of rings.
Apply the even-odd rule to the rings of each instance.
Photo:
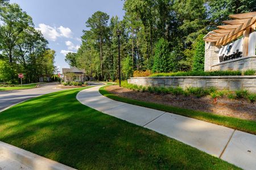
[[[204,35],[199,35],[193,44],[193,67],[192,70],[204,71]]]

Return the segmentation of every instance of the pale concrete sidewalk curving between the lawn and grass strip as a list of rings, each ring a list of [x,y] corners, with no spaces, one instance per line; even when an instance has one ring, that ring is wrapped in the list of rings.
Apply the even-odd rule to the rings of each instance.
[[[217,156],[243,169],[256,167],[256,135],[177,114],[114,101],[98,89],[77,94],[82,104],[133,124],[154,130],[187,145]]]

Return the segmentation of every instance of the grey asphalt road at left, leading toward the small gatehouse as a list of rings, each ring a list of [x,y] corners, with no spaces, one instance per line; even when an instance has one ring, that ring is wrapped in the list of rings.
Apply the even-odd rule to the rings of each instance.
[[[0,91],[0,112],[2,109],[20,103],[24,100],[31,99],[36,96],[49,94],[51,92],[61,91],[64,89],[57,88],[57,83],[40,84],[38,88],[26,90]]]

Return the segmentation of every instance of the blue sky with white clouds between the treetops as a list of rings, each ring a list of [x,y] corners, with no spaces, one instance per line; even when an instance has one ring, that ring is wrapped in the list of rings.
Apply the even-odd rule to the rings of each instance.
[[[76,52],[81,44],[85,22],[96,11],[123,18],[121,0],[10,0],[18,3],[34,21],[49,41],[49,48],[56,51],[55,65],[61,71],[69,67],[64,61],[67,52]]]

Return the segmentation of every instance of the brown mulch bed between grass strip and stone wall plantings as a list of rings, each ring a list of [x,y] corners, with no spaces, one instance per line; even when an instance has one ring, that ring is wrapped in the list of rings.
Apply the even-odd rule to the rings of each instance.
[[[227,97],[222,97],[215,101],[210,96],[198,99],[195,96],[159,95],[150,94],[149,92],[137,92],[119,86],[109,86],[106,90],[112,94],[130,99],[256,121],[256,103],[249,103],[246,99],[229,100]]]

